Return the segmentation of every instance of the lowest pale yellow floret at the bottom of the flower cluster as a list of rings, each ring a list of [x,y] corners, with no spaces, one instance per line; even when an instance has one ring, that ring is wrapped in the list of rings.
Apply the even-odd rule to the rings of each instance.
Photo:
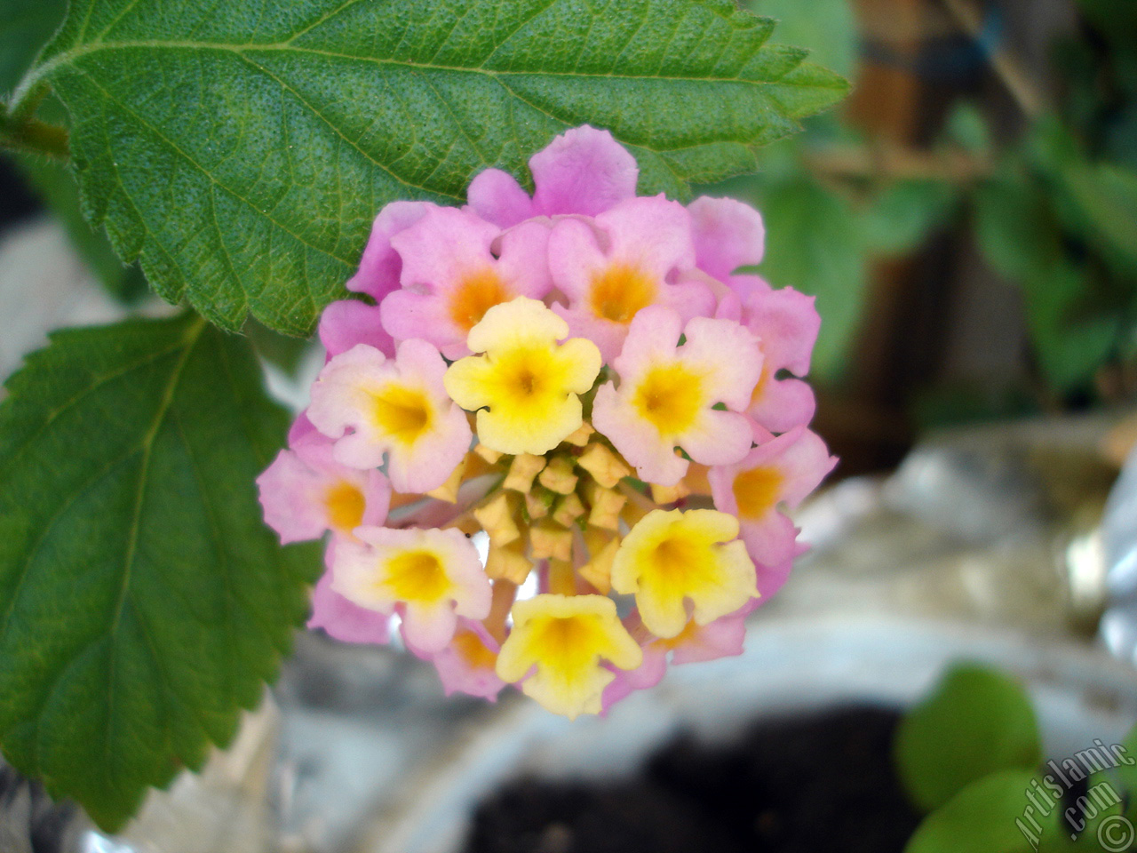
[[[574,719],[599,713],[600,694],[623,670],[644,661],[620,623],[616,604],[601,595],[538,595],[513,606],[513,631],[498,654],[497,673],[516,682],[536,665],[522,690],[549,711]]]

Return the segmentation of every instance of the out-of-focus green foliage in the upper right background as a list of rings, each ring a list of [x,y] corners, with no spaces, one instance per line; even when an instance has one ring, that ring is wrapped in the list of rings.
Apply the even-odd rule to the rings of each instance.
[[[829,114],[765,149],[761,174],[708,188],[762,210],[769,242],[758,272],[818,297],[815,379],[832,384],[848,364],[870,264],[911,252],[948,224],[972,227],[988,263],[1021,289],[1028,366],[1047,401],[1093,399],[1103,367],[1137,361],[1137,3],[1077,2],[1080,31],[1053,45],[1061,94],[1024,132],[996,141],[977,106],[949,111],[935,150],[970,158],[974,175],[827,175],[819,152],[864,144]],[[847,0],[749,8],[778,18],[779,34],[811,48],[820,65],[854,75],[858,36]],[[1007,400],[1014,412],[1031,407],[1004,386],[968,390],[966,411],[953,414],[960,391],[933,389],[921,411],[943,421],[1007,414]]]

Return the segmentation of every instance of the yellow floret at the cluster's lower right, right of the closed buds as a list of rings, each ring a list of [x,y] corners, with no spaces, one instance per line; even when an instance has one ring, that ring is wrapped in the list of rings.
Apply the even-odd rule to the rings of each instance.
[[[612,564],[612,587],[636,595],[644,624],[674,637],[695,621],[707,624],[758,596],[754,563],[738,536],[738,519],[715,510],[653,510],[624,537]],[[722,543],[727,543],[723,545]]]

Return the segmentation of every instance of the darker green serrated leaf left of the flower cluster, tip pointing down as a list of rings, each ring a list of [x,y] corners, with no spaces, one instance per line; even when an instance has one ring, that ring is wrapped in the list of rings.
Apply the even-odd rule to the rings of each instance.
[[[241,338],[60,332],[0,405],[0,748],[118,826],[274,677],[318,570],[254,479],[282,444]]]

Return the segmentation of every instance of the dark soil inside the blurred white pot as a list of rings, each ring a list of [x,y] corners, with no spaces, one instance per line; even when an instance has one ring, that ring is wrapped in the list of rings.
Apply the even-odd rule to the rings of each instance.
[[[893,772],[898,720],[764,720],[725,746],[681,737],[630,779],[521,779],[479,808],[466,853],[899,853],[920,817]]]

